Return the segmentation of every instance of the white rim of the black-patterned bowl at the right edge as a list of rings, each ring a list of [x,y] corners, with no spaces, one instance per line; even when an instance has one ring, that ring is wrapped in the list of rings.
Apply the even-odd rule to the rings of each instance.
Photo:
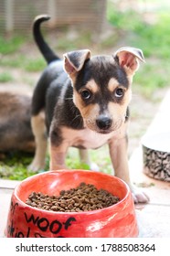
[[[157,137],[161,137],[161,136],[166,136],[166,137],[170,137],[170,133],[153,133],[153,134],[144,134],[142,139],[141,139],[141,144],[148,149],[152,149],[154,151],[160,152],[160,153],[166,153],[166,154],[170,154],[170,150],[166,151],[162,148],[158,148],[158,146],[156,145],[152,145],[152,141],[154,139],[156,139]]]

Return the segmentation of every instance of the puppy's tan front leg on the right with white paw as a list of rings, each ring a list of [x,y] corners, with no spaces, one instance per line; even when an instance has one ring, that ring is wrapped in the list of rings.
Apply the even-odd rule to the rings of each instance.
[[[134,203],[146,203],[149,197],[140,189],[133,186],[129,175],[128,155],[127,155],[127,136],[120,139],[112,139],[109,143],[110,155],[115,176],[120,177],[130,187],[133,193]]]

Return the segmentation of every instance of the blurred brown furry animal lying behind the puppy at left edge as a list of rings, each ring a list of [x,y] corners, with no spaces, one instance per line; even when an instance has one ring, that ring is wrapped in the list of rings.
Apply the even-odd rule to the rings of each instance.
[[[0,157],[13,150],[35,152],[31,96],[0,91]]]

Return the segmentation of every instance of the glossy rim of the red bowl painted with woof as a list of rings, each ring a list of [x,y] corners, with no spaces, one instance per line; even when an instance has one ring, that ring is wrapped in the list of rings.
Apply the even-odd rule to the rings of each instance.
[[[32,178],[34,178],[35,176],[43,176],[43,175],[46,175],[46,174],[55,174],[55,173],[60,173],[60,172],[74,172],[74,171],[80,171],[80,172],[88,172],[90,170],[81,170],[81,169],[60,169],[60,170],[56,170],[56,171],[47,171],[47,172],[44,172],[44,173],[39,173],[39,174],[36,174],[34,176],[28,176],[26,179],[24,179],[23,181],[21,181],[21,183],[19,183],[18,185],[16,185],[14,191],[13,191],[13,196],[16,197],[16,199],[18,200],[19,204],[21,205],[21,207],[24,207],[25,209],[26,208],[32,208],[34,209],[37,213],[38,212],[44,212],[46,214],[48,214],[48,216],[50,215],[93,215],[93,214],[97,214],[97,213],[101,213],[101,212],[104,212],[104,211],[107,211],[107,209],[111,209],[111,208],[116,208],[117,206],[120,206],[121,204],[124,203],[124,201],[126,200],[127,197],[132,197],[131,196],[131,191],[130,191],[130,187],[119,177],[117,176],[112,176],[112,175],[109,175],[109,174],[104,174],[104,173],[97,173],[95,171],[90,171],[92,173],[95,173],[95,174],[99,174],[101,176],[110,176],[110,177],[113,177],[114,179],[117,179],[119,180],[120,182],[122,182],[122,185],[126,188],[126,195],[125,197],[123,197],[118,203],[110,206],[110,207],[107,207],[107,208],[101,208],[101,209],[95,209],[95,210],[89,210],[89,211],[80,211],[80,212],[76,212],[76,211],[70,211],[70,212],[62,212],[62,211],[50,211],[50,210],[47,210],[47,209],[39,209],[39,208],[34,208],[34,207],[31,207],[29,205],[27,205],[24,201],[22,201],[18,196],[17,196],[17,190],[19,189],[19,187],[27,182],[29,179],[31,180]],[[133,198],[133,197],[132,197]]]

